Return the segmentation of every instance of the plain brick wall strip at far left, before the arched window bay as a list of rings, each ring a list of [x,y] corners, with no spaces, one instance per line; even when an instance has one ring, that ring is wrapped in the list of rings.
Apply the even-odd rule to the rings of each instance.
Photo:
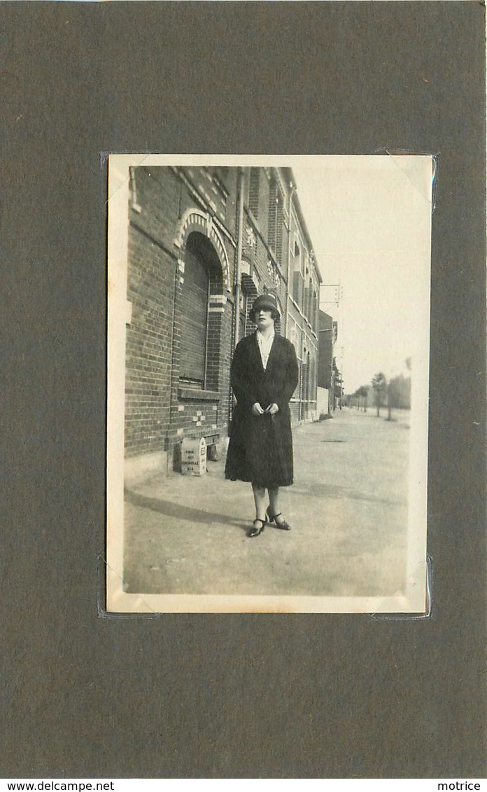
[[[127,456],[164,448],[169,425],[171,335],[178,185],[170,169],[138,168],[130,211],[127,299],[125,447]]]

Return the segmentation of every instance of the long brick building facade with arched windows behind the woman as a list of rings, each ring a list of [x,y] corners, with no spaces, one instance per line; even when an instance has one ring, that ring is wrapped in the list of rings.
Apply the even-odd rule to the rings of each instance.
[[[321,276],[289,168],[130,169],[127,469],[177,466],[185,437],[226,438],[230,361],[272,291],[295,345],[293,421],[316,416]]]

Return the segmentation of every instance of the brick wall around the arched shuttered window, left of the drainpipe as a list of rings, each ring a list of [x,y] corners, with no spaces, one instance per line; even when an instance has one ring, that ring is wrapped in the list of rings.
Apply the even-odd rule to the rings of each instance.
[[[186,171],[187,169],[185,169]],[[138,168],[132,178],[136,206],[130,209],[127,299],[132,303],[127,326],[126,421],[127,458],[155,451],[169,456],[185,436],[226,436],[229,414],[233,303],[227,290],[234,278],[234,246],[211,231],[202,219],[193,187],[211,197],[214,215],[235,231],[235,169],[176,173],[171,168]],[[229,173],[230,172],[230,173]],[[200,212],[191,224],[192,212]],[[188,227],[183,228],[185,218]],[[195,223],[197,223],[195,225]],[[185,242],[200,234],[213,251],[209,270],[207,366],[204,391],[180,380],[179,353],[185,316],[181,310]],[[218,236],[217,236],[218,234]],[[211,240],[218,242],[217,249]],[[224,262],[220,266],[219,257]],[[191,310],[186,300],[185,311]]]

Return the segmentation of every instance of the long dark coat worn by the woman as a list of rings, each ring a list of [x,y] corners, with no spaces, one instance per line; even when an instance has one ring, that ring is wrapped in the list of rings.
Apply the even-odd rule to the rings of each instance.
[[[257,334],[242,338],[235,348],[230,380],[237,404],[230,427],[225,476],[268,489],[292,484],[293,459],[289,400],[299,379],[291,341],[276,333],[264,369]],[[253,415],[259,402],[275,403],[275,415]]]

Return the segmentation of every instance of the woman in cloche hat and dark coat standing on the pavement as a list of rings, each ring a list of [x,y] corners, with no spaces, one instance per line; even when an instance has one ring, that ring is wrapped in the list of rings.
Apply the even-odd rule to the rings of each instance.
[[[280,487],[293,482],[289,401],[298,384],[299,370],[291,341],[275,333],[274,322],[280,318],[275,296],[257,297],[250,318],[257,330],[238,343],[231,367],[237,404],[225,477],[252,484],[256,518],[248,536],[253,538],[261,535],[268,522],[291,530],[278,501]]]

